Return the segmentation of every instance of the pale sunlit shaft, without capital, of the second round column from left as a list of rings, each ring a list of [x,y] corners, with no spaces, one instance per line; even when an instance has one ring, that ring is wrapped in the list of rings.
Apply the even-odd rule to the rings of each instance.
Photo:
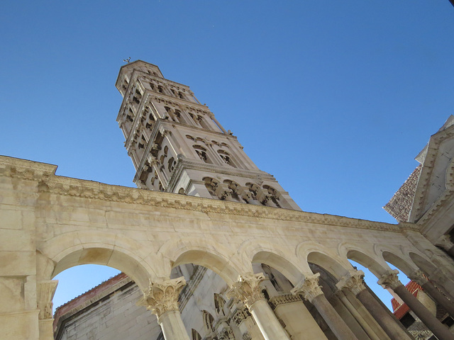
[[[266,340],[290,340],[266,300],[254,302],[249,311]]]

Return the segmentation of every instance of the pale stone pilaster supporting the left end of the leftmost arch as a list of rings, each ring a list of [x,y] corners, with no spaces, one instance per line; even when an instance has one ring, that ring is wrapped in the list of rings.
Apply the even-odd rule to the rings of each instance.
[[[39,318],[40,340],[53,339],[52,299],[57,289],[58,280],[40,281],[37,285],[36,301]]]

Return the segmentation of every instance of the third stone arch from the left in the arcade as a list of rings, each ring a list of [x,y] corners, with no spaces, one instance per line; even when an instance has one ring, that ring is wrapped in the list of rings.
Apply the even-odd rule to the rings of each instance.
[[[310,273],[309,266],[300,268],[297,259],[292,254],[279,249],[276,244],[260,240],[260,244],[251,241],[241,246],[243,259],[249,263],[264,263],[282,273],[292,285],[297,285],[304,277],[304,273]]]

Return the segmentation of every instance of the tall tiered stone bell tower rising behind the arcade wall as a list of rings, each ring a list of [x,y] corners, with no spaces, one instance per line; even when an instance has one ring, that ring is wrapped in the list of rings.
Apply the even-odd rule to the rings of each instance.
[[[137,60],[121,67],[116,88],[123,96],[117,122],[138,188],[300,210],[189,86]]]

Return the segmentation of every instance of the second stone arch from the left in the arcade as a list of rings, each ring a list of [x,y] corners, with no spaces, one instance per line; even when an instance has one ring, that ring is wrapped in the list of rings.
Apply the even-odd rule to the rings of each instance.
[[[234,261],[233,251],[206,238],[187,237],[167,242],[158,253],[170,259],[172,268],[187,263],[204,266],[221,276],[228,285],[236,282],[242,272]]]

